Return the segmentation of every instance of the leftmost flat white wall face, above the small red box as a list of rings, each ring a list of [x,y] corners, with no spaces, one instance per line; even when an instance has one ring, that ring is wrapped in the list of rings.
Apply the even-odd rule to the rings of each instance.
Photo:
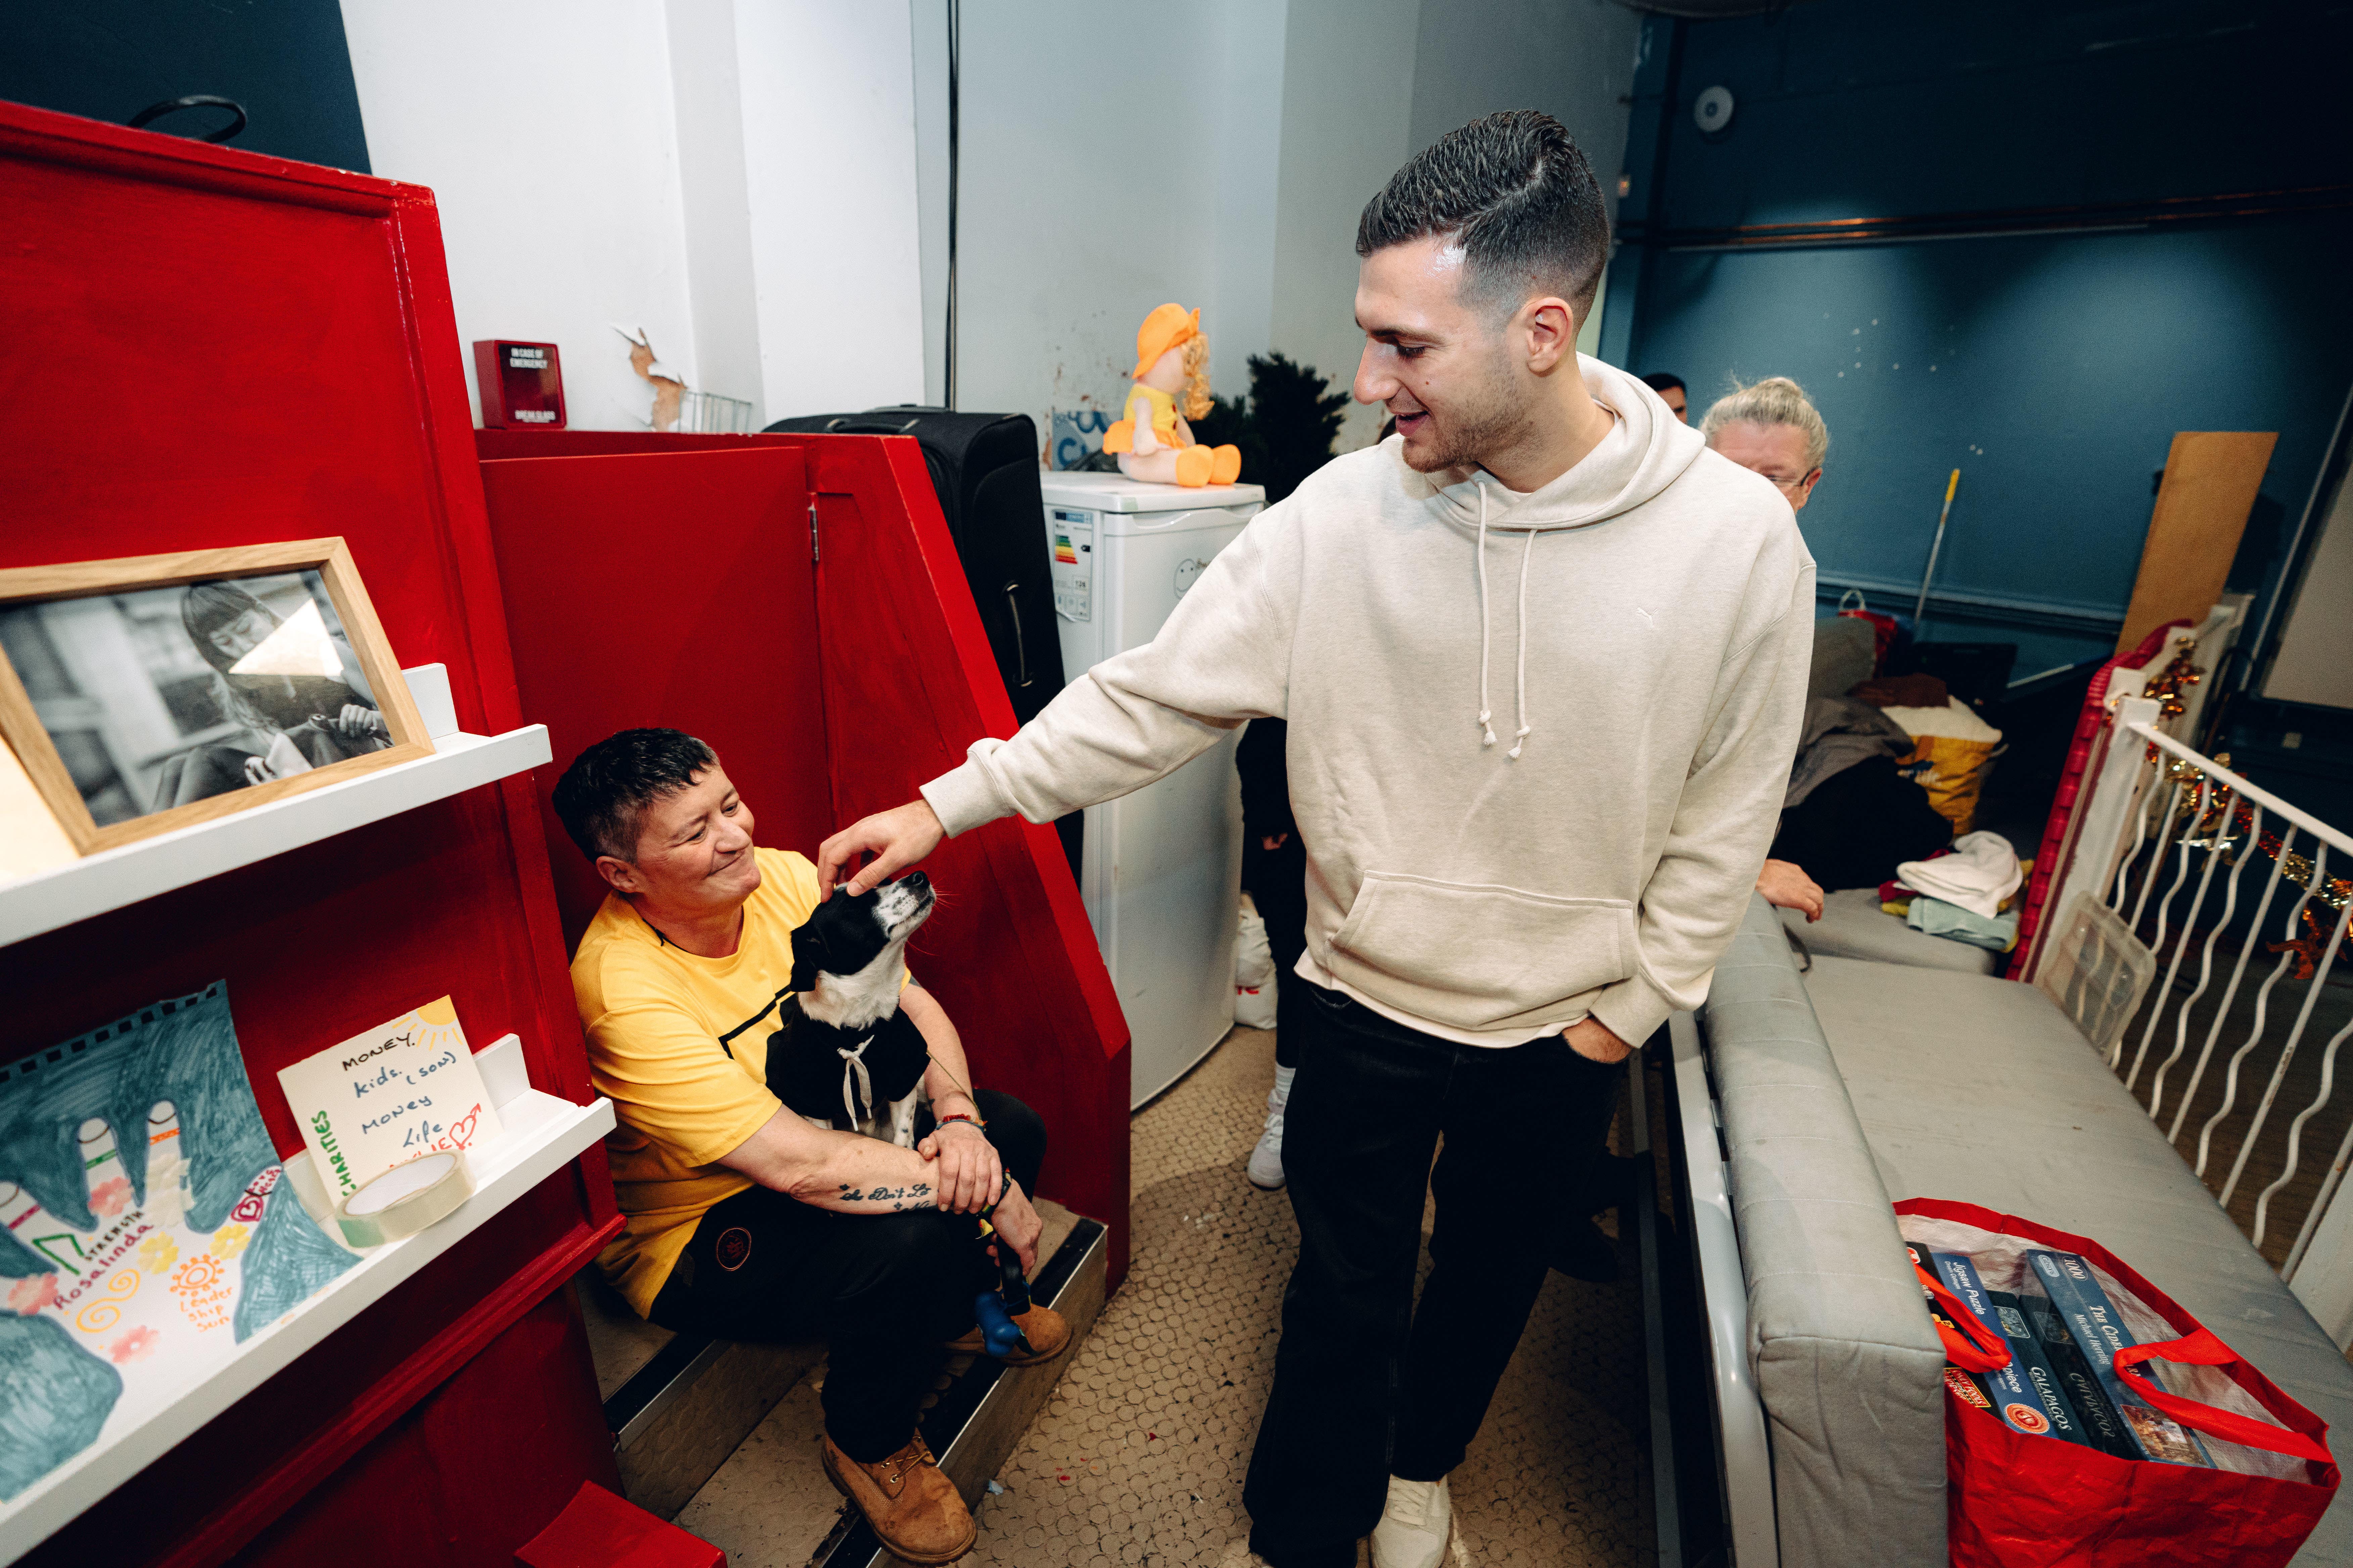
[[[346,0],[344,33],[369,162],[440,202],[459,341],[555,343],[579,430],[642,428],[652,402],[609,322],[642,324],[692,386],[661,7]]]

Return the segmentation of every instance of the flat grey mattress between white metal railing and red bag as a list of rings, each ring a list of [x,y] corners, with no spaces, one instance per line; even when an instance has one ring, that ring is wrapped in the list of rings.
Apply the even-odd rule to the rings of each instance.
[[[1805,987],[1892,1199],[2094,1237],[2329,1422],[2346,1458],[2353,1366],[2042,992],[1842,957],[1817,957]],[[2344,1495],[2297,1563],[2353,1563]]]

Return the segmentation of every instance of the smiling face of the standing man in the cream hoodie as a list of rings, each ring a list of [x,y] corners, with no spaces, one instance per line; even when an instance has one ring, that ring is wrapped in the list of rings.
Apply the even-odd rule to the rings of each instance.
[[[1440,235],[1365,256],[1355,282],[1365,355],[1353,393],[1398,421],[1407,468],[1471,468],[1527,440],[1539,383],[1515,348],[1529,336],[1522,317],[1546,308],[1560,317],[1548,331],[1567,327],[1574,339],[1558,299],[1527,301],[1501,320],[1492,301],[1466,299],[1464,254]]]

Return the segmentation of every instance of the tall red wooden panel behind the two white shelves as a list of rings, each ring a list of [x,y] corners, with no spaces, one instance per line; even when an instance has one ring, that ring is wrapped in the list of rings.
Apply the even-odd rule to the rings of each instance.
[[[431,190],[0,103],[0,567],[339,534],[400,663],[447,663],[466,729],[525,722]],[[586,1098],[562,959],[532,783],[506,780],[0,947],[0,1060],[226,978],[292,1152],[275,1070],[442,992],[475,1044],[515,1030],[536,1086]],[[101,1505],[104,1547],[68,1552],[85,1519],[42,1556],[221,1561],[532,1312],[612,1213],[598,1150],[158,1460],[136,1509]],[[584,1352],[558,1371],[478,1420],[572,1465],[569,1495],[605,1434],[558,1389]],[[344,1526],[365,1542],[372,1509]]]

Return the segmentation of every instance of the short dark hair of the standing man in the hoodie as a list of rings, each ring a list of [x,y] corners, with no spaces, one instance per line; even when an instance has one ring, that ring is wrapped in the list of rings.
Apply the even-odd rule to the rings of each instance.
[[[1464,289],[1518,308],[1558,294],[1579,324],[1609,261],[1609,212],[1593,165],[1560,120],[1511,108],[1447,132],[1405,160],[1355,223],[1355,254],[1449,235]]]

